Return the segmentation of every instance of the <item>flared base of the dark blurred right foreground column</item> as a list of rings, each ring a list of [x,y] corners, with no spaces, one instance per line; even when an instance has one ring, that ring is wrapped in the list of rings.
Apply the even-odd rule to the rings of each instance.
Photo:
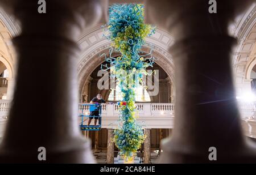
[[[161,143],[163,150],[159,163],[164,164],[184,164],[184,163],[255,163],[256,151],[253,143],[248,143],[246,147],[226,148],[225,151],[218,151],[216,147],[217,160],[209,160],[209,148],[199,148],[181,146],[171,139],[163,139]]]

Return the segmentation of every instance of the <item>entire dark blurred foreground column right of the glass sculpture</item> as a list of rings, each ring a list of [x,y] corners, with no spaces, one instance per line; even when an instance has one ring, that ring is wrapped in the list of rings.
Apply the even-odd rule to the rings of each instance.
[[[228,34],[229,22],[249,2],[218,1],[217,14],[210,14],[208,1],[146,1],[147,19],[175,37],[175,125],[172,139],[161,146],[161,163],[255,163],[233,87],[236,39]],[[216,147],[217,161],[209,160],[210,147]]]

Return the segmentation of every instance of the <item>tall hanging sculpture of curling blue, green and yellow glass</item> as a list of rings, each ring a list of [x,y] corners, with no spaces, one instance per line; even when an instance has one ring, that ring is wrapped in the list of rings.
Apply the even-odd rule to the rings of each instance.
[[[134,153],[141,147],[145,135],[142,126],[136,121],[138,117],[135,105],[135,91],[141,84],[146,68],[154,64],[151,52],[142,55],[141,48],[147,36],[155,28],[144,23],[144,6],[136,4],[115,4],[109,8],[109,23],[104,27],[108,31],[107,39],[113,41],[106,57],[108,64],[101,65],[102,70],[110,70],[110,76],[117,80],[123,100],[119,103],[119,126],[114,130],[114,142],[120,155],[126,161],[133,159]],[[112,57],[113,52],[121,56]]]

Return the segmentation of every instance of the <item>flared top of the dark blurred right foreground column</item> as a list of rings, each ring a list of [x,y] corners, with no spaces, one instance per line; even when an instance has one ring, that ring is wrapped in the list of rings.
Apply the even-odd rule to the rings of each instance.
[[[217,13],[209,13],[209,1],[146,1],[146,22],[172,33],[175,41],[188,37],[228,35],[228,25],[253,0],[217,1]],[[158,20],[161,19],[161,20]],[[148,20],[148,21],[147,21]]]

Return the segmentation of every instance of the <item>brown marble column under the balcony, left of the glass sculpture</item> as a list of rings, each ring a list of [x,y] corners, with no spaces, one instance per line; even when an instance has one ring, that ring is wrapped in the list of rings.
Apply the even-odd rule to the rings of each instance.
[[[113,129],[108,129],[108,146],[107,146],[107,164],[114,163],[114,148],[115,143],[113,142]]]

